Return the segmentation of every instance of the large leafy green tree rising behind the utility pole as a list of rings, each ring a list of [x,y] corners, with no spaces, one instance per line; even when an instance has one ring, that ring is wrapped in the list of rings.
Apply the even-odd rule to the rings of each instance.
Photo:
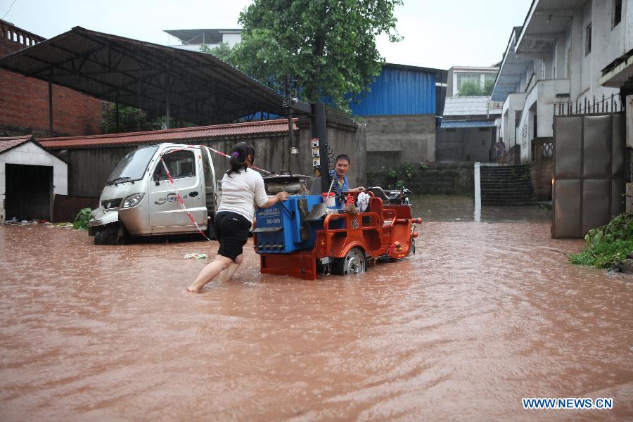
[[[350,95],[366,91],[385,59],[376,36],[401,39],[395,6],[402,0],[254,0],[240,13],[242,41],[229,63],[268,83],[284,73],[298,80],[302,99],[328,96],[349,110]]]

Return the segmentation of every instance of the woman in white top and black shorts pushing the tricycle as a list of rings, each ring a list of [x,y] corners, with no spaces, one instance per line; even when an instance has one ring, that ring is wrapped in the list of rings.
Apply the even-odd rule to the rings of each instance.
[[[186,291],[198,293],[203,286],[222,273],[220,281],[229,281],[243,260],[242,248],[255,214],[255,204],[268,208],[288,198],[279,192],[268,198],[262,175],[252,170],[255,149],[241,142],[231,151],[231,169],[222,178],[222,201],[217,209],[213,229],[219,241],[217,256],[200,271]]]

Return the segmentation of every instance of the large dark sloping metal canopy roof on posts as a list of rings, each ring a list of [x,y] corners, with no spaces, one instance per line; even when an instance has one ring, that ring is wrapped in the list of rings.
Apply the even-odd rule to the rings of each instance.
[[[168,102],[172,116],[195,124],[286,113],[280,94],[212,54],[82,27],[0,58],[0,67],[151,115],[164,114]]]

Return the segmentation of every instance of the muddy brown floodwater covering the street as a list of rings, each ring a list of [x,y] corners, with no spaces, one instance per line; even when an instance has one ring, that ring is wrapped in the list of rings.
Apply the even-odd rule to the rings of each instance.
[[[4,421],[633,418],[632,276],[575,267],[540,208],[414,198],[416,255],[359,276],[183,289],[217,243],[0,226]],[[523,410],[522,397],[613,397]]]

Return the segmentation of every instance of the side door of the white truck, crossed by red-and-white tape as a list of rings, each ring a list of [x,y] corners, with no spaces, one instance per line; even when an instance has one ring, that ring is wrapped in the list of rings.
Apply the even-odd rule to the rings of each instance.
[[[204,225],[207,224],[207,209],[203,203],[205,186],[200,158],[198,148],[188,148],[162,156],[185,207],[198,224]],[[155,164],[149,191],[149,221],[153,234],[196,231],[196,226],[182,209],[160,160]]]

